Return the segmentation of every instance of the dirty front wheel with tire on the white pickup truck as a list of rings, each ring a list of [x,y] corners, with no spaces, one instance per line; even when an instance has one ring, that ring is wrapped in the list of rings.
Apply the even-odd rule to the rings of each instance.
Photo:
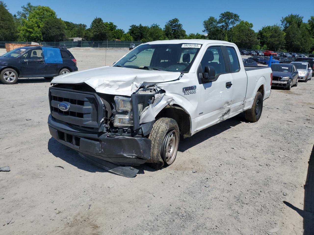
[[[149,163],[156,170],[176,160],[179,146],[179,127],[172,118],[159,118],[148,137],[151,141]]]

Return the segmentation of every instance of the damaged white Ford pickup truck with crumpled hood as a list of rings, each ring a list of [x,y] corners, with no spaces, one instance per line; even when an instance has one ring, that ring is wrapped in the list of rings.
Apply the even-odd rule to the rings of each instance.
[[[148,42],[113,66],[55,77],[48,126],[83,158],[133,177],[145,162],[171,165],[180,136],[241,112],[257,122],[271,80],[270,67],[245,67],[233,43]]]

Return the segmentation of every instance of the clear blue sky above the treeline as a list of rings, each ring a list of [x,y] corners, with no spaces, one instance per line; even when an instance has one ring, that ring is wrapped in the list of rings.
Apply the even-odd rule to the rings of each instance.
[[[9,11],[14,14],[21,10],[21,6],[30,2],[32,5],[49,6],[57,13],[58,18],[73,23],[86,24],[88,27],[97,16],[104,21],[113,22],[118,28],[129,29],[131,24],[151,25],[165,23],[178,18],[183,29],[189,33],[201,33],[203,21],[210,16],[219,18],[219,14],[231,11],[240,15],[241,20],[253,24],[258,31],[265,25],[280,24],[281,17],[291,13],[303,16],[303,21],[314,15],[311,1],[101,1],[101,0],[4,0]],[[312,3],[310,3],[312,2]]]

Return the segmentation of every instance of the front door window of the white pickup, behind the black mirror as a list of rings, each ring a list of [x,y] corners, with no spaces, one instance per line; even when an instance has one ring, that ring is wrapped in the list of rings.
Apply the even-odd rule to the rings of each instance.
[[[207,48],[201,61],[201,66],[203,72],[206,66],[213,66],[216,70],[216,74],[226,72],[225,60],[220,46],[212,46]]]

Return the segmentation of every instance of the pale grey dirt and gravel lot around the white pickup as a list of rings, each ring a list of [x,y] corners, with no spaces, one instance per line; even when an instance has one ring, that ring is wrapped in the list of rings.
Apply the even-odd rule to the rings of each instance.
[[[127,51],[72,53],[83,70],[105,58],[112,65]],[[314,190],[305,205],[303,186],[314,81],[272,90],[257,123],[238,115],[205,129],[181,141],[173,165],[143,165],[131,179],[51,138],[49,86],[45,79],[0,85],[0,166],[11,168],[0,172],[0,234],[313,234]]]

